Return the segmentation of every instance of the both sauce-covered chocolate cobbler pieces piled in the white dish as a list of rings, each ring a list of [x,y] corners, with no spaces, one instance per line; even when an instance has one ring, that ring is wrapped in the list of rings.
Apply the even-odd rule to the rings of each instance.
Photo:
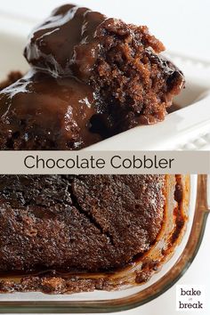
[[[26,46],[33,75],[0,93],[0,130],[4,131],[0,149],[81,149],[136,125],[163,120],[184,85],[182,72],[160,54],[164,49],[145,26],[108,19],[72,4],[56,9],[34,30]],[[43,85],[38,91],[37,79]],[[59,91],[57,106],[48,79]],[[28,85],[23,85],[24,80]],[[50,102],[51,119],[40,117]],[[79,111],[84,115],[77,115]]]

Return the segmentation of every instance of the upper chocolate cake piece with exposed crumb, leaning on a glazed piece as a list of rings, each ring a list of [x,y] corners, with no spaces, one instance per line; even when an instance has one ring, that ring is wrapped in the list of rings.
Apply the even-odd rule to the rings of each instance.
[[[182,72],[159,54],[164,50],[145,26],[67,4],[35,29],[25,56],[52,76],[75,76],[92,85],[103,114],[94,121],[113,135],[163,120],[181,92]]]

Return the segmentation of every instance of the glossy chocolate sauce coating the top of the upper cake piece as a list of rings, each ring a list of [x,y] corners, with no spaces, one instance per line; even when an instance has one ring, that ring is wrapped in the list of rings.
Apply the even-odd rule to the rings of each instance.
[[[73,74],[86,80],[100,47],[96,29],[104,20],[99,12],[63,5],[35,29],[24,54],[30,64],[54,76]]]

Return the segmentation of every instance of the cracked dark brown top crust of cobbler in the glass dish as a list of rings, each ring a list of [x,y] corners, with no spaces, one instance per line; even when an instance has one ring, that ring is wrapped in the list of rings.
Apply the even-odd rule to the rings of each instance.
[[[157,238],[164,185],[164,176],[1,177],[0,270],[95,272],[132,262]]]

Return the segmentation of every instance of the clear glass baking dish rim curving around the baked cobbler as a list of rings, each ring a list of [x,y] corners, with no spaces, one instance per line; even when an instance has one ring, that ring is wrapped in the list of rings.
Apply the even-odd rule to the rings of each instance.
[[[201,244],[210,211],[208,175],[190,175],[189,222],[173,257],[146,284],[119,291],[73,295],[14,293],[0,295],[1,313],[90,313],[133,309],[162,295],[190,267]]]

